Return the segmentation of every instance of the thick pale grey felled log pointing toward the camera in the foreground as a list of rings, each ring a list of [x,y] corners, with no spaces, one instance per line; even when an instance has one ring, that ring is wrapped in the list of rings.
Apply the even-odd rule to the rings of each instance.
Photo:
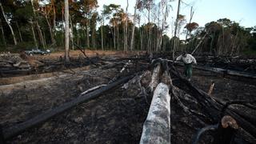
[[[170,143],[169,86],[162,82],[154,90],[150,110],[143,125],[140,143]]]

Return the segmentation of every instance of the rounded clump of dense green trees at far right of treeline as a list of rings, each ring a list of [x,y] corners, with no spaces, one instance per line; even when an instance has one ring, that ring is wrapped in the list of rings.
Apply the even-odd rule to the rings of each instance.
[[[245,28],[228,18],[221,18],[217,22],[209,22],[205,28],[198,29],[193,38],[203,39],[201,52],[216,55],[237,55],[242,51],[254,50],[255,38],[251,34],[253,28]],[[193,39],[191,38],[191,39]],[[194,43],[190,40],[190,43]],[[193,45],[194,46],[194,45]]]

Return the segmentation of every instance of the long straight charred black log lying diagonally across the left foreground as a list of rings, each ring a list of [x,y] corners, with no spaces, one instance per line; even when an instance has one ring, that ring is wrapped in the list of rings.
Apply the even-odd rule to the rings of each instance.
[[[62,112],[69,110],[70,108],[72,108],[74,106],[78,106],[82,102],[86,102],[93,98],[97,98],[102,93],[114,88],[115,86],[120,85],[123,82],[128,81],[132,77],[133,76],[130,75],[125,78],[118,79],[116,82],[113,82],[107,86],[104,86],[98,90],[95,90],[95,91],[91,92],[90,94],[82,95],[81,97],[78,97],[78,98],[72,100],[71,102],[66,102],[62,106],[58,106],[57,108],[55,108],[53,110],[47,110],[46,112],[39,114],[38,116],[36,116],[26,122],[19,123],[18,125],[10,127],[7,130],[3,130],[2,138],[4,138],[5,140],[9,139],[9,138],[13,138],[16,135],[21,134],[24,130],[27,130],[33,126],[37,126],[38,124],[41,124],[42,122],[46,122],[46,120],[48,120],[49,118],[52,118],[57,114],[61,114]]]

